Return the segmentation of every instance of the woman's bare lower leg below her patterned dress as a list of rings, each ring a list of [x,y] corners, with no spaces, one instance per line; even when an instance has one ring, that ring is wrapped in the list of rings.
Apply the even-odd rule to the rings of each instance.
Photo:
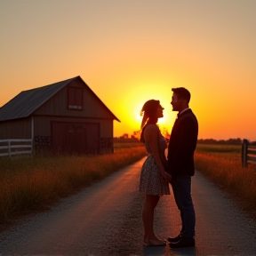
[[[144,224],[144,241],[159,240],[154,233],[154,210],[159,201],[160,196],[146,195],[145,203],[142,210],[142,220]]]

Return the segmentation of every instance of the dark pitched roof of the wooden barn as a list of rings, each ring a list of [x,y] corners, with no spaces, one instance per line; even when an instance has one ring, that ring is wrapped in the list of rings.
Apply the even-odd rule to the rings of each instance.
[[[32,115],[37,108],[41,107],[47,100],[52,98],[54,94],[60,92],[62,88],[77,78],[84,82],[80,76],[76,76],[55,84],[49,84],[43,87],[20,92],[18,95],[12,98],[12,100],[8,101],[2,108],[0,108],[0,122]],[[87,84],[84,83],[84,85],[87,86],[92,92],[92,89]],[[98,100],[100,100],[94,92],[92,93],[98,98]],[[105,108],[107,108],[107,106],[101,100],[100,102],[105,106]],[[113,116],[113,119],[120,122],[120,120],[109,109],[108,111]]]

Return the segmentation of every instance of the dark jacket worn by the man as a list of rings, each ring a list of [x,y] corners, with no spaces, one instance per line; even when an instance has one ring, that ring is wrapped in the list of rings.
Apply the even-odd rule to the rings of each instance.
[[[196,116],[190,108],[176,119],[168,146],[166,172],[173,177],[195,174],[194,152],[198,135]]]

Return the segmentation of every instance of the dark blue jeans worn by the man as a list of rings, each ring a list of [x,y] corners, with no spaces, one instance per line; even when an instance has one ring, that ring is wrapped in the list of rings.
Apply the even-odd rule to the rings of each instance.
[[[180,236],[194,238],[196,214],[191,197],[191,177],[176,176],[173,177],[171,183],[175,202],[180,210],[182,220]]]

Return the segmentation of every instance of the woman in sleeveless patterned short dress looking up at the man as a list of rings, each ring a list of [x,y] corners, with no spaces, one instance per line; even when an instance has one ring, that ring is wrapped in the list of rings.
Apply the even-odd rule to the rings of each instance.
[[[148,152],[140,173],[140,191],[146,194],[142,210],[145,232],[143,244],[146,246],[165,245],[165,241],[155,235],[153,228],[154,210],[160,196],[170,195],[168,180],[171,176],[164,170],[164,165],[167,163],[164,150],[167,145],[156,125],[158,118],[164,116],[163,109],[159,100],[148,100],[141,109],[143,118],[140,141],[145,144]]]

